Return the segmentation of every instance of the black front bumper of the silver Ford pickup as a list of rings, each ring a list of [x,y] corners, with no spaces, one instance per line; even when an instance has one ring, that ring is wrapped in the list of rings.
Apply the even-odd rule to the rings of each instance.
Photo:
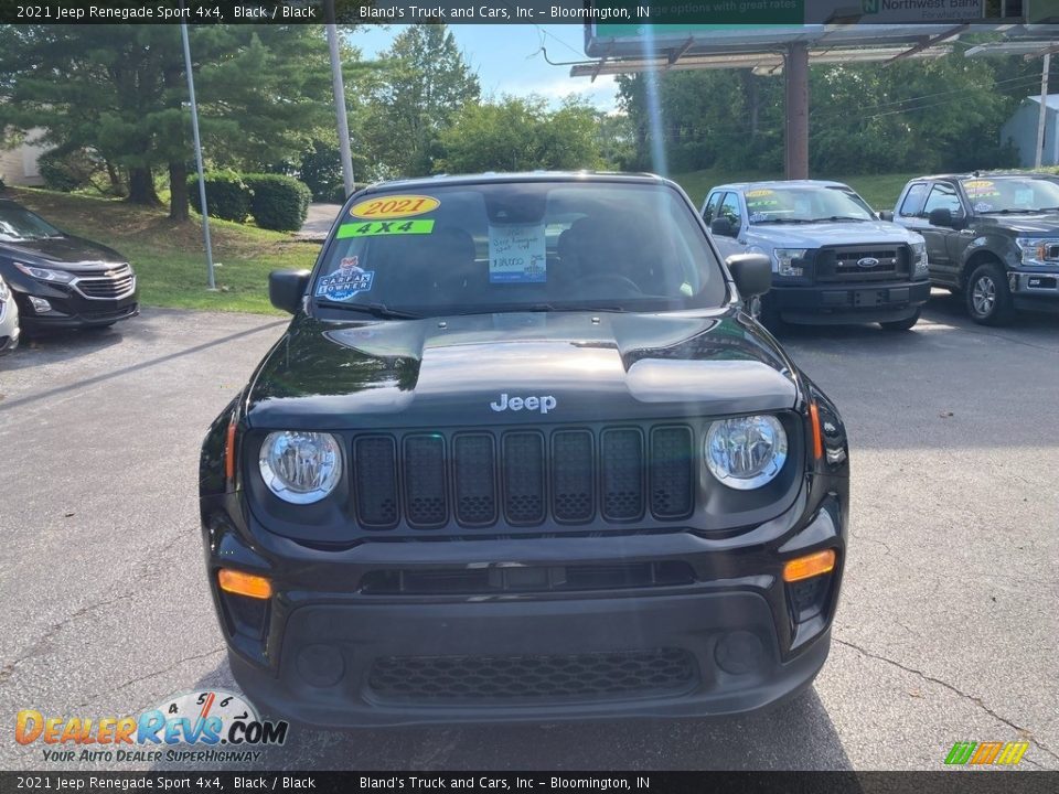
[[[923,280],[773,285],[762,301],[787,322],[839,324],[907,320],[929,298],[930,282]]]

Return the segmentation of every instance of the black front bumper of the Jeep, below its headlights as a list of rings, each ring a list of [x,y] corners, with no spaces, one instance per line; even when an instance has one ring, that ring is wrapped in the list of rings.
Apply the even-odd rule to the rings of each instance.
[[[846,489],[837,479],[826,493],[806,489],[783,515],[729,537],[680,530],[338,550],[271,535],[229,493],[204,501],[206,564],[237,683],[266,711],[298,722],[716,717],[791,696],[824,664]],[[240,529],[243,519],[250,525]],[[823,548],[836,551],[834,571],[810,596],[795,594],[783,562]],[[673,566],[684,573],[672,576]],[[271,599],[222,592],[222,567],[268,576]],[[585,569],[596,583],[565,589],[576,570],[586,581]],[[491,591],[473,583],[482,570],[495,575]]]

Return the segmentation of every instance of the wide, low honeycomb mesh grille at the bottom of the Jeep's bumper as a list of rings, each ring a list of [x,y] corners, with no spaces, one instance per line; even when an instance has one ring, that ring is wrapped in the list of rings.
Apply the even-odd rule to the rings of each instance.
[[[387,656],[368,686],[377,698],[486,702],[683,695],[698,665],[683,648],[541,656]]]

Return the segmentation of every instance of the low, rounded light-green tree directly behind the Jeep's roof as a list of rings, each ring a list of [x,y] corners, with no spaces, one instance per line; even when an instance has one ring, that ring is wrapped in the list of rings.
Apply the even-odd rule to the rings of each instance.
[[[575,99],[554,111],[539,97],[464,105],[441,132],[443,157],[436,168],[449,173],[599,168],[598,116]]]

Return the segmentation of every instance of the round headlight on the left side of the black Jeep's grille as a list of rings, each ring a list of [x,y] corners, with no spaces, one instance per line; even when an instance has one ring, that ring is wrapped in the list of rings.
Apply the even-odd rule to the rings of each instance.
[[[269,433],[259,462],[268,490],[293,504],[319,502],[334,491],[342,476],[342,452],[331,433]]]

